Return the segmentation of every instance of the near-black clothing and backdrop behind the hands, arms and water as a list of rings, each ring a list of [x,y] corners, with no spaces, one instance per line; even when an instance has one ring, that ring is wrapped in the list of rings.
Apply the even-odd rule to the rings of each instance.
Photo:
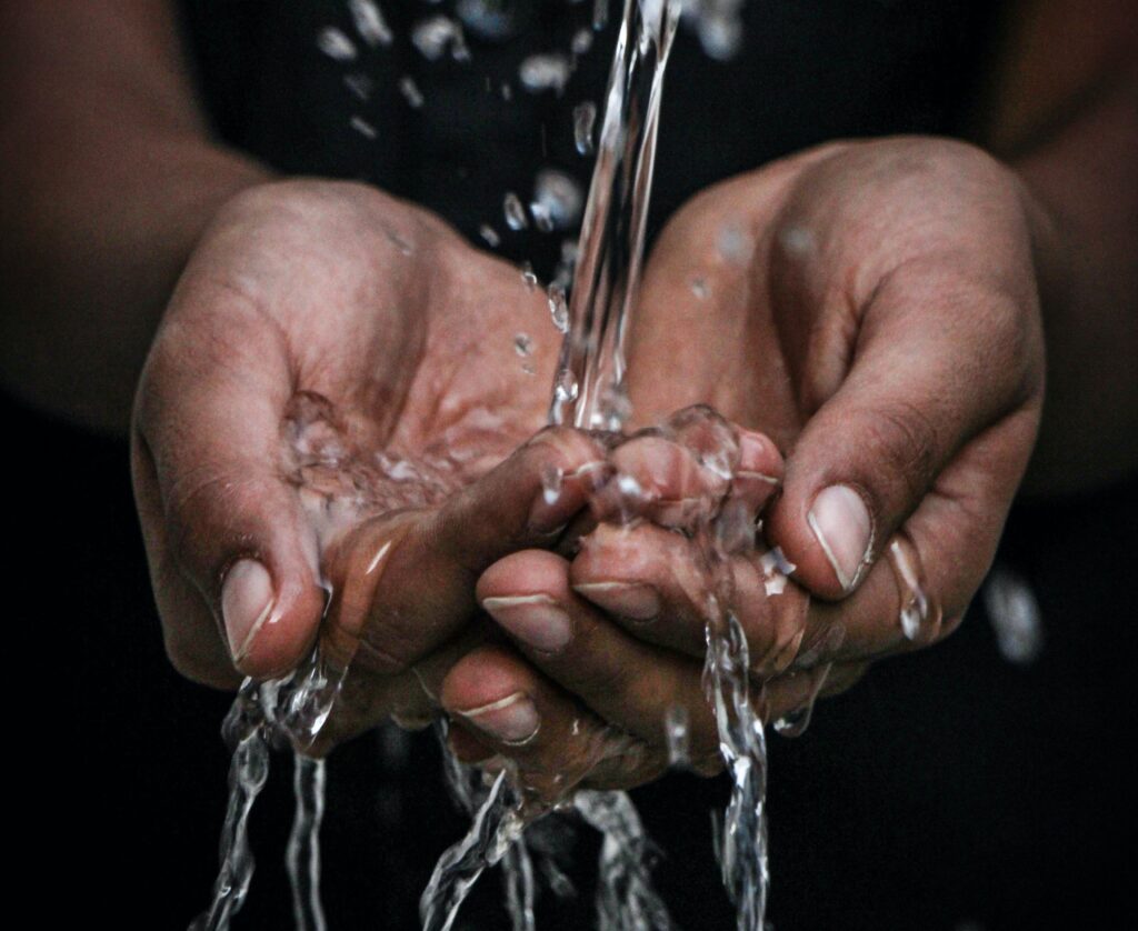
[[[496,86],[534,42],[564,48],[587,6],[534,6],[525,42],[472,41],[476,74],[493,74]],[[385,7],[403,34],[409,10],[429,9]],[[654,225],[707,183],[813,142],[963,131],[993,9],[753,0],[748,52],[731,66],[709,63],[681,35]],[[611,27],[563,99],[518,91],[512,107],[480,93],[481,81],[472,85],[459,66],[428,66],[405,44],[362,61],[381,89],[364,113],[384,130],[377,143],[347,129],[344,68],[313,47],[319,26],[347,25],[343,10],[332,0],[185,3],[189,48],[223,138],[282,171],[378,181],[471,234],[486,221],[504,233],[502,193],[526,197],[542,165],[587,179],[568,114],[597,99]],[[422,112],[394,91],[404,73],[423,90]],[[530,234],[506,237],[503,250],[547,271],[556,246]],[[56,890],[36,897],[52,926],[184,928],[216,868],[229,698],[182,681],[165,660],[125,444],[6,397],[0,414],[15,553],[11,815],[31,825],[15,854]],[[999,558],[1031,583],[1042,609],[1046,641],[1033,665],[1000,657],[978,607],[945,644],[884,662],[826,702],[800,740],[772,741],[770,918],[780,931],[1132,922],[1135,871],[1122,851],[1133,835],[1125,748],[1136,499],[1130,483],[1015,510]],[[393,756],[398,744],[380,732],[331,759],[324,901],[333,931],[413,926],[436,856],[463,831],[429,735],[399,750],[404,764]],[[274,760],[255,815],[261,860],[238,928],[291,926],[282,867],[289,769]],[[679,923],[732,926],[710,854],[709,811],[725,798],[723,782],[669,776],[636,797],[665,851],[658,881]],[[580,901],[546,914],[543,928],[589,926],[595,841],[583,832],[577,847]],[[464,913],[471,922],[505,926],[496,892],[494,880],[484,882]]]

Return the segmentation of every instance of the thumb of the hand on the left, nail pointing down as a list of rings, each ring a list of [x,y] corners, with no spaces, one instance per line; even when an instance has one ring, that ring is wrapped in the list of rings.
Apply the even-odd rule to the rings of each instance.
[[[179,300],[224,320],[224,345],[208,327],[181,327]],[[277,675],[311,648],[324,607],[316,537],[281,477],[289,368],[272,328],[230,291],[175,296],[171,314],[134,420],[140,516],[167,643],[220,633],[242,673]],[[181,596],[175,571],[197,600]]]

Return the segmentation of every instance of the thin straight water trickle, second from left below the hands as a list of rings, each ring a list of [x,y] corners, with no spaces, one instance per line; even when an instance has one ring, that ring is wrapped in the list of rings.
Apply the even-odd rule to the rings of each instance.
[[[325,931],[328,924],[320,901],[320,824],[324,817],[322,759],[294,755],[292,792],[296,810],[284,862],[292,889],[296,931]]]

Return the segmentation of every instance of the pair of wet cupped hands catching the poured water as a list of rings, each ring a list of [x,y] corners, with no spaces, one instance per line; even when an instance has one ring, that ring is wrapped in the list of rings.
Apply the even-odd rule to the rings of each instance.
[[[692,404],[734,425],[716,500],[795,567],[768,594],[758,547],[729,559],[772,718],[946,634],[982,582],[1041,409],[1030,209],[962,143],[835,143],[708,189],[657,241],[634,426]],[[327,181],[237,196],[135,405],[174,665],[232,686],[320,640],[349,669],[322,749],[445,715],[461,759],[551,793],[566,774],[658,775],[678,706],[692,766],[715,772],[708,592],[684,533],[714,479],[671,434],[608,448],[543,429],[559,346],[539,289],[417,207]],[[589,499],[617,472],[641,512],[597,524]],[[937,604],[915,641],[883,558],[898,538]]]

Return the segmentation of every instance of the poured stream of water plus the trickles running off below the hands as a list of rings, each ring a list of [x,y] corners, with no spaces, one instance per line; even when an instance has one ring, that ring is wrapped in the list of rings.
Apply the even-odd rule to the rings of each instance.
[[[354,11],[366,13],[369,6],[356,3]],[[550,420],[554,423],[618,432],[629,414],[624,345],[643,257],[665,68],[682,6],[681,0],[626,0],[624,6],[577,248],[567,332],[553,386]],[[595,10],[597,23],[603,25],[608,3],[597,2]],[[382,20],[369,18],[372,26],[376,22]],[[442,31],[436,28],[431,35],[436,33]],[[448,31],[445,40],[444,46],[454,47],[452,53],[455,48],[465,48],[461,33]],[[335,51],[347,57],[345,43],[329,35],[322,41],[329,55]],[[589,123],[591,137],[592,116],[583,114],[577,118]],[[737,454],[729,429],[714,412],[701,411],[695,417],[700,430],[720,437],[720,448],[701,455],[726,469],[729,480],[728,460]],[[737,928],[760,931],[767,889],[766,743],[762,720],[749,694],[747,642],[727,607],[731,579],[727,554],[717,542],[723,538],[720,530],[708,521],[693,536],[693,558],[700,561],[709,582],[704,682],[715,710],[720,751],[732,777],[731,802],[717,854],[724,884],[737,908]],[[284,679],[261,685],[247,682],[240,690],[225,727],[233,761],[221,871],[213,901],[191,925],[192,931],[224,931],[244,903],[253,873],[248,815],[267,777],[270,744],[281,736],[300,751],[296,757],[297,804],[288,850],[297,928],[324,929],[319,898],[323,764],[305,758],[303,751],[328,717],[344,675],[345,670],[325,668],[318,649]],[[677,748],[684,743],[684,724],[669,718],[669,738]],[[619,741],[599,747],[596,760],[620,751]],[[677,756],[681,752],[686,753],[676,750]],[[597,893],[601,931],[670,928],[667,908],[650,881],[645,857],[649,843],[635,807],[622,792],[574,793],[584,775],[566,781],[562,802],[603,834]],[[547,815],[553,805],[527,804],[508,771],[487,782],[448,757],[447,777],[455,799],[470,813],[472,825],[439,859],[423,892],[423,928],[448,931],[481,873],[502,864],[512,926],[514,931],[531,931],[535,870],[525,832],[527,824]]]

